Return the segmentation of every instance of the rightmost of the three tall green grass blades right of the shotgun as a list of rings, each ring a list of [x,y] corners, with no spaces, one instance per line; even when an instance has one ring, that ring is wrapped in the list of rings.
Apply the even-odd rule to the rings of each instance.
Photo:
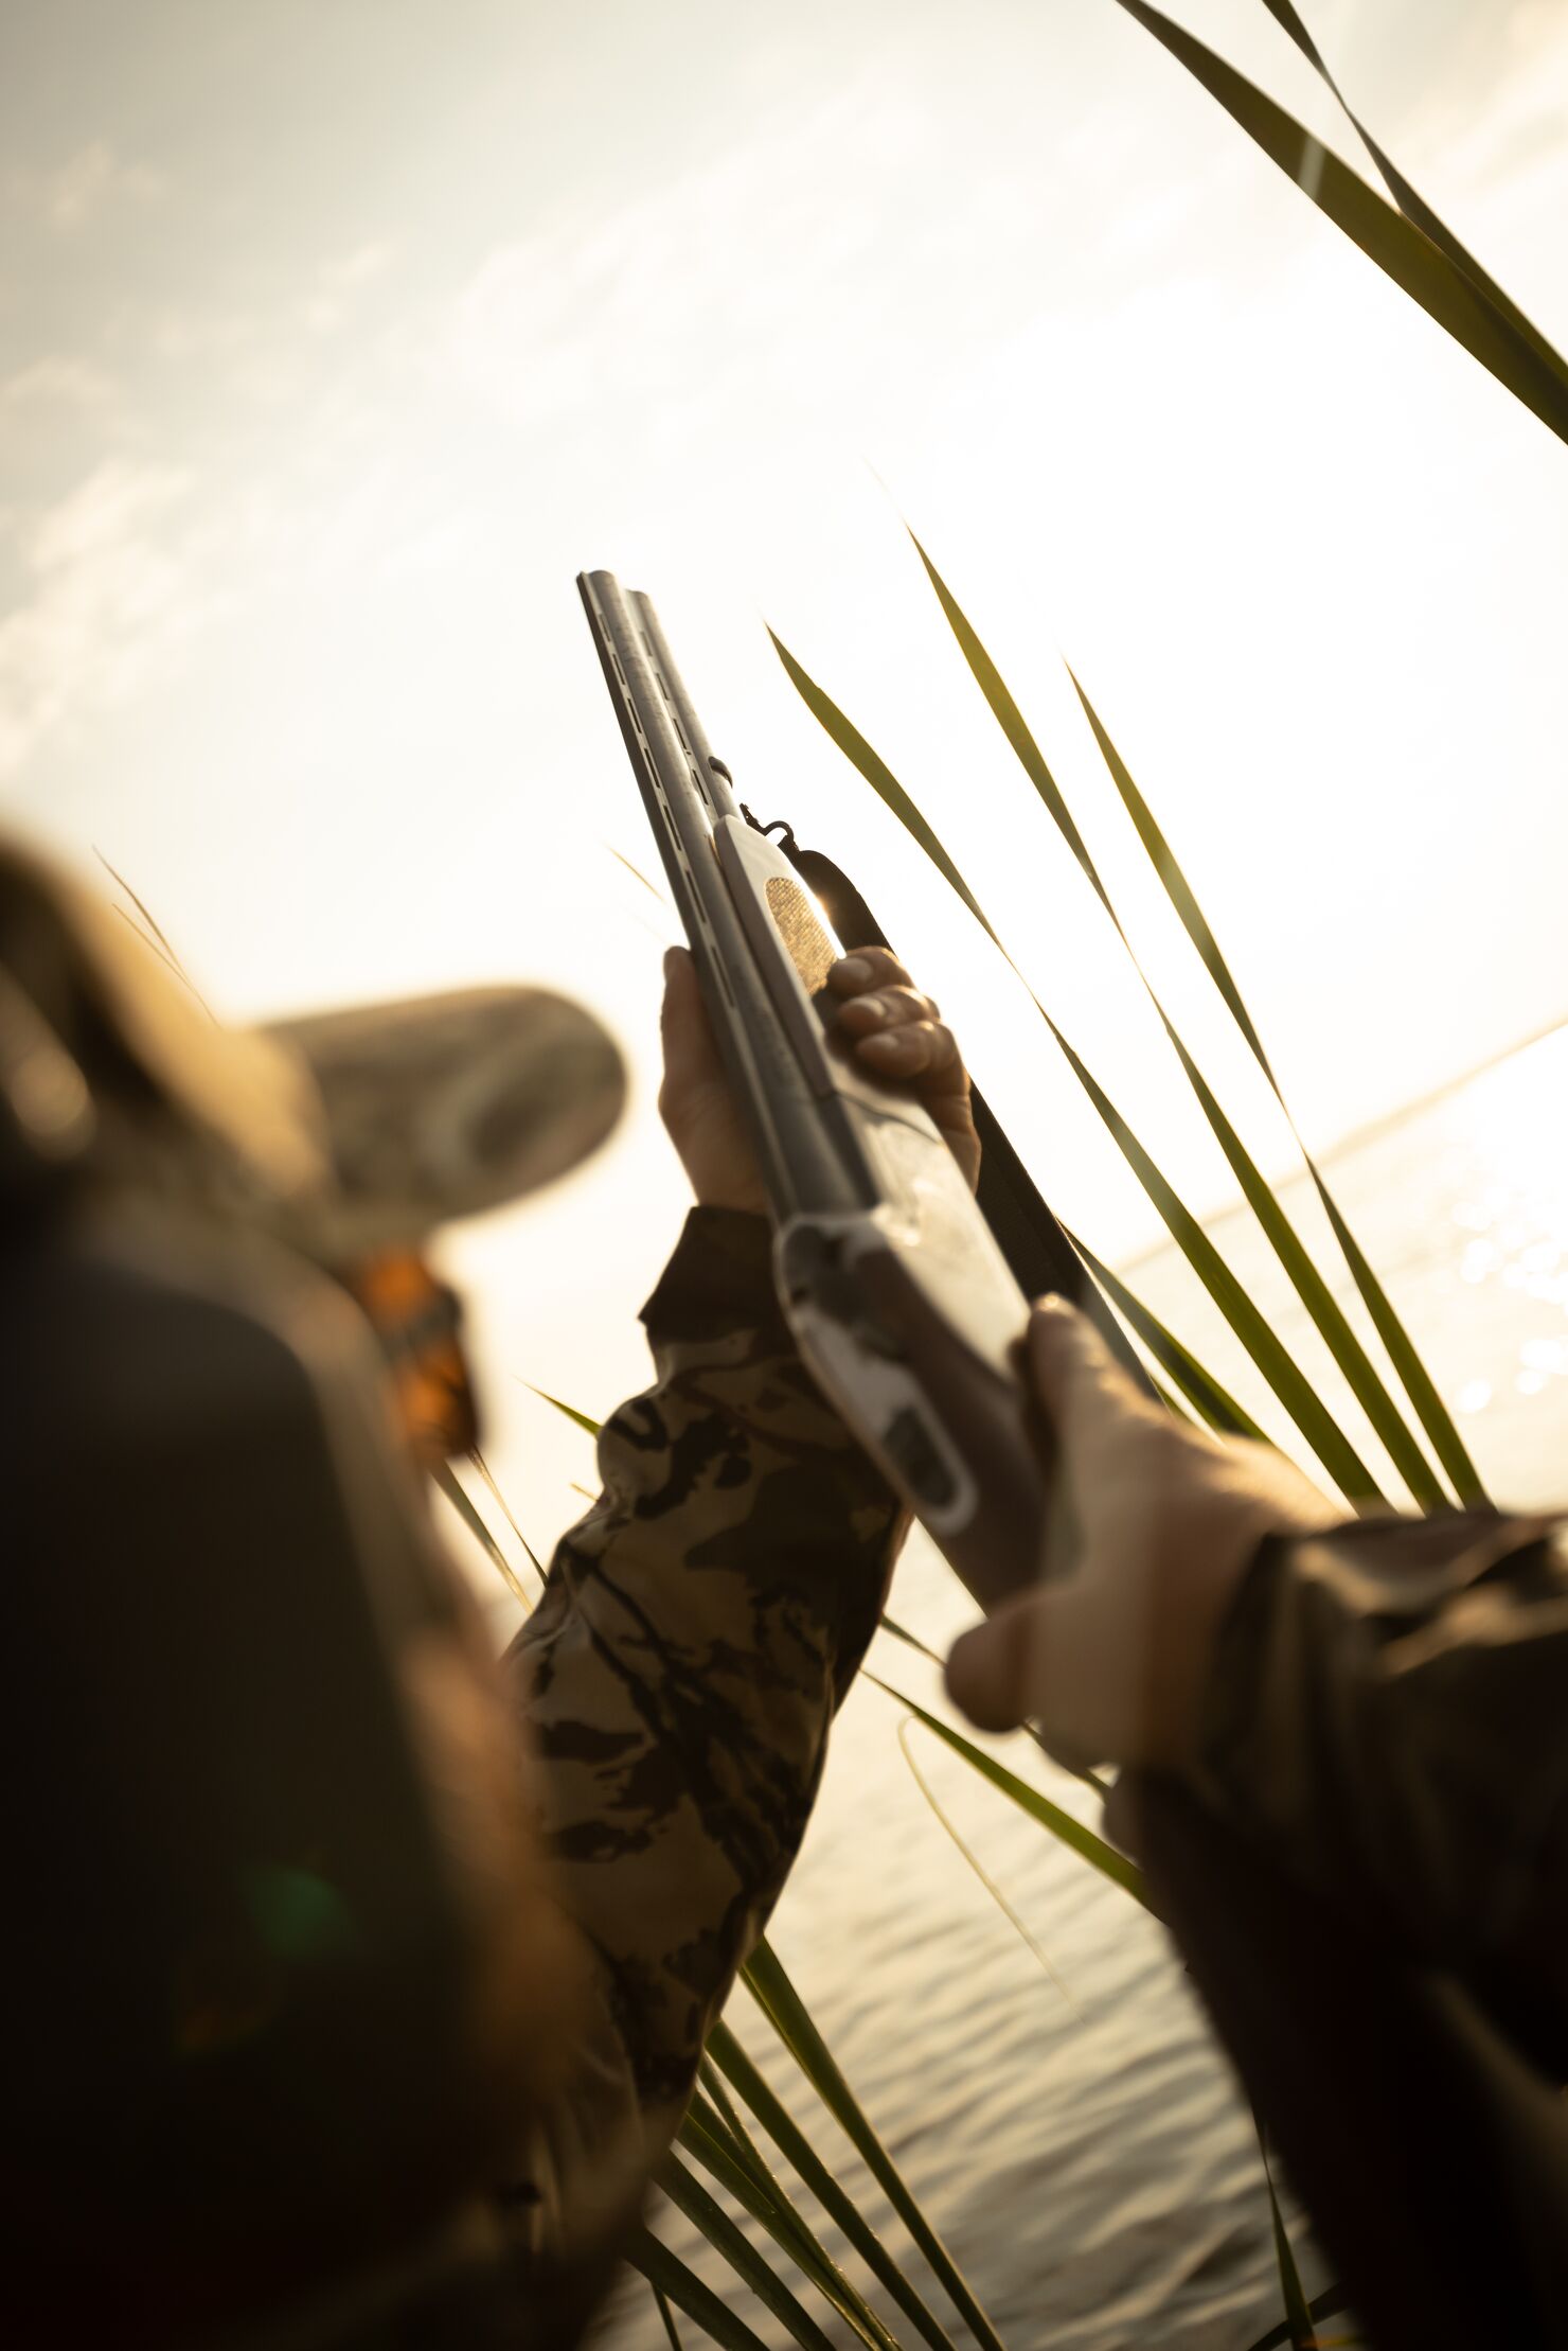
[[[1128,766],[1126,766],[1126,759],[1121,757],[1121,752],[1112,743],[1110,734],[1100,724],[1100,715],[1098,715],[1095,705],[1084,694],[1084,686],[1079,684],[1079,679],[1074,677],[1074,672],[1067,670],[1067,675],[1072,677],[1072,686],[1077,691],[1077,698],[1084,705],[1084,717],[1088,719],[1093,738],[1100,745],[1100,757],[1105,759],[1105,766],[1110,769],[1112,783],[1117,785],[1117,795],[1121,797],[1121,806],[1126,809],[1126,813],[1128,813],[1128,818],[1133,823],[1133,830],[1138,832],[1138,839],[1143,842],[1143,846],[1145,846],[1145,851],[1150,856],[1150,863],[1154,865],[1154,872],[1159,875],[1159,879],[1164,884],[1164,891],[1166,891],[1171,905],[1175,907],[1175,915],[1178,915],[1178,919],[1180,919],[1187,938],[1197,947],[1199,959],[1204,962],[1204,969],[1208,971],[1208,978],[1218,987],[1218,992],[1220,992],[1220,997],[1222,997],[1222,1002],[1225,1002],[1232,1020],[1237,1023],[1237,1027],[1246,1037],[1246,1041],[1248,1041],[1248,1046],[1253,1051],[1253,1058],[1255,1058],[1258,1067],[1262,1070],[1265,1079],[1269,1081],[1274,1100],[1279,1103],[1279,1107],[1281,1107],[1281,1112],[1286,1117],[1286,1124],[1288,1124],[1291,1133],[1295,1136],[1295,1145],[1298,1145],[1298,1150],[1302,1154],[1307,1173],[1312,1176],[1312,1183],[1316,1187],[1316,1197],[1324,1204],[1324,1213],[1328,1215],[1328,1223],[1333,1227],[1333,1237],[1340,1244],[1345,1262],[1349,1265],[1349,1274],[1352,1274],[1352,1279],[1356,1284],[1356,1291],[1361,1293],[1361,1302],[1366,1305],[1366,1312],[1371,1314],[1373,1328],[1375,1328],[1378,1338],[1382,1340],[1382,1345],[1387,1349],[1387,1357],[1389,1357],[1389,1361],[1392,1361],[1392,1366],[1394,1366],[1394,1371],[1396,1371],[1396,1375],[1399,1375],[1399,1380],[1401,1380],[1401,1385],[1403,1385],[1410,1404],[1415,1406],[1415,1418],[1420,1420],[1422,1429],[1427,1432],[1427,1441],[1432,1444],[1432,1451],[1436,1453],[1439,1462],[1448,1472],[1448,1479],[1453,1481],[1453,1488],[1460,1495],[1460,1500],[1462,1502],[1483,1502],[1486,1500],[1486,1491],[1483,1491],[1481,1479],[1476,1474],[1476,1465],[1472,1462],[1472,1458],[1469,1458],[1469,1453],[1465,1448],[1465,1439],[1460,1436],[1458,1427],[1453,1425],[1453,1415],[1448,1413],[1448,1408],[1443,1406],[1443,1399],[1439,1396],[1436,1387],[1432,1385],[1432,1378],[1429,1378],[1429,1373],[1427,1373],[1420,1354],[1415,1352],[1410,1333],[1399,1321],[1399,1314],[1394,1312],[1394,1307],[1392,1307],[1392,1302],[1387,1298],[1387,1291],[1378,1281],[1378,1274],[1368,1265],[1368,1260],[1361,1253],[1361,1246],[1356,1244],[1349,1225],[1340,1215],[1340,1208],[1338,1208],[1338,1204],[1335,1204],[1335,1199],[1333,1199],[1333,1194],[1328,1190],[1328,1183],[1326,1183],[1326,1178],[1324,1178],[1316,1159],[1312,1157],[1312,1152],[1307,1150],[1307,1145],[1300,1138],[1295,1119],[1291,1117],[1291,1105],[1286,1103],[1286,1098],[1281,1093],[1281,1086],[1279,1086],[1279,1079],[1274,1077],[1274,1067],[1269,1063],[1269,1056],[1262,1049],[1262,1039],[1258,1037],[1258,1030],[1251,1023],[1246,1004],[1241,1002],[1241,990],[1237,987],[1237,983],[1232,978],[1229,964],[1225,962],[1225,955],[1220,952],[1220,943],[1213,936],[1213,931],[1208,929],[1208,922],[1204,919],[1204,910],[1199,907],[1199,903],[1197,903],[1197,898],[1192,893],[1192,886],[1190,886],[1185,872],[1180,870],[1180,865],[1178,865],[1178,860],[1175,860],[1175,856],[1173,856],[1173,851],[1171,851],[1164,832],[1154,823],[1154,816],[1150,813],[1150,806],[1147,806],[1143,792],[1133,783],[1133,778],[1128,773]],[[1173,1041],[1178,1044],[1178,1051],[1182,1051],[1180,1041],[1178,1039],[1173,1039]],[[1185,1053],[1182,1053],[1182,1060],[1185,1060]],[[1227,1152],[1227,1157],[1229,1157],[1229,1152]],[[1234,1161],[1232,1161],[1232,1166],[1234,1166]],[[1244,1183],[1244,1190],[1248,1190],[1246,1183]],[[1251,1199],[1251,1190],[1248,1190],[1248,1199]],[[1298,1291],[1300,1291],[1300,1284],[1298,1284]],[[1338,1307],[1335,1307],[1335,1314],[1338,1314]],[[1340,1321],[1342,1321],[1342,1317],[1340,1317]],[[1319,1324],[1319,1328],[1321,1328],[1321,1324]],[[1347,1331],[1347,1335],[1349,1335],[1349,1331]],[[1324,1331],[1324,1338],[1328,1338],[1328,1331]],[[1352,1335],[1352,1347],[1356,1347],[1354,1335]],[[1356,1352],[1361,1352],[1361,1349],[1356,1347]],[[1338,1349],[1335,1349],[1335,1361],[1340,1361],[1340,1368],[1349,1378],[1349,1368],[1340,1359]],[[1361,1354],[1361,1361],[1366,1364],[1366,1373],[1375,1380],[1373,1366],[1366,1361],[1366,1354]],[[1420,1455],[1415,1455],[1415,1462],[1420,1465],[1420,1472],[1410,1462],[1410,1458],[1408,1458],[1408,1439],[1401,1446],[1394,1446],[1389,1441],[1389,1427],[1385,1425],[1382,1406],[1378,1411],[1373,1411],[1371,1387],[1366,1387],[1361,1380],[1352,1380],[1352,1387],[1354,1387],[1356,1399],[1361,1401],[1361,1408],[1366,1411],[1368,1420],[1373,1422],[1373,1427],[1382,1436],[1385,1446],[1389,1448],[1389,1458],[1396,1462],[1396,1467],[1406,1476],[1406,1481],[1410,1486],[1410,1493],[1420,1502],[1427,1502],[1427,1507],[1434,1507],[1434,1509],[1446,1507],[1448,1498],[1441,1493],[1441,1488],[1436,1488],[1436,1483],[1432,1479],[1432,1472],[1427,1469],[1425,1460]],[[1382,1382],[1378,1382],[1378,1394],[1387,1394],[1382,1389]],[[1403,1422],[1399,1420],[1396,1425],[1403,1432]]]

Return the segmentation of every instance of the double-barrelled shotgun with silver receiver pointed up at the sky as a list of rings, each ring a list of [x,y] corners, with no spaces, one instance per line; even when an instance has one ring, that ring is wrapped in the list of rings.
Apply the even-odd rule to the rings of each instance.
[[[654,607],[609,571],[578,588],[750,1119],[785,1319],[844,1422],[994,1606],[1046,1556],[1053,1448],[1016,1371],[1027,1300],[933,1121],[835,1039],[827,971],[846,950],[741,813]]]

